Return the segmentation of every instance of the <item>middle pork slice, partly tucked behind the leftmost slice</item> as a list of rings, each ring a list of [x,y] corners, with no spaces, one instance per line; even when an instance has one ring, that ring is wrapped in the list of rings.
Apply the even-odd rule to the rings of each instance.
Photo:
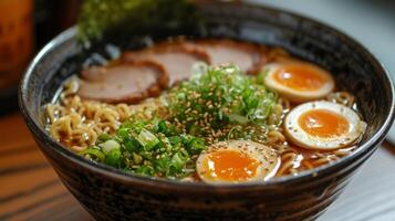
[[[191,67],[197,62],[208,63],[205,52],[188,50],[180,45],[160,45],[157,48],[136,52],[125,52],[123,61],[152,61],[162,64],[169,76],[169,86],[188,80],[191,75]]]

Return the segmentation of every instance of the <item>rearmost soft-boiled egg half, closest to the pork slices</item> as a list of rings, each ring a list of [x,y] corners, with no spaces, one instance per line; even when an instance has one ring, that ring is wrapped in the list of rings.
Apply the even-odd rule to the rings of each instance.
[[[311,63],[283,61],[268,64],[264,70],[266,85],[292,103],[322,98],[334,88],[331,74]]]

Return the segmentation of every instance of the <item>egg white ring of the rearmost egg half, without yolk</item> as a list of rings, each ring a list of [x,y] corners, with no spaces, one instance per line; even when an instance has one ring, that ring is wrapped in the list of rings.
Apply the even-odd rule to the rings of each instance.
[[[299,65],[305,65],[311,69],[314,69],[320,75],[324,76],[328,81],[324,83],[322,87],[319,90],[314,91],[299,91],[294,90],[291,87],[288,87],[285,85],[282,85],[274,78],[274,74],[283,66],[288,64],[299,64]],[[326,96],[329,93],[331,93],[334,88],[334,80],[332,75],[326,72],[325,70],[314,65],[310,64],[306,62],[300,62],[300,61],[288,61],[288,62],[281,62],[281,63],[270,63],[264,66],[264,71],[267,71],[267,76],[264,78],[264,84],[270,90],[273,90],[278,92],[281,96],[288,98],[292,103],[304,103],[304,102],[310,102],[314,99],[320,99]]]

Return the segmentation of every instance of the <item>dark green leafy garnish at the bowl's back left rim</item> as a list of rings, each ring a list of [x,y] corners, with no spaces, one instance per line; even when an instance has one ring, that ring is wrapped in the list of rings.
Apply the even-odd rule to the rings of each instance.
[[[171,28],[196,22],[189,0],[84,0],[77,21],[83,42],[106,33],[137,33],[142,29]]]

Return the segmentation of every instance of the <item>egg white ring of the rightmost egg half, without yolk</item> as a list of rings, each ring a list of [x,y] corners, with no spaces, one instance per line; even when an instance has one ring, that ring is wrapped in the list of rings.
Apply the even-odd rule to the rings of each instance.
[[[349,123],[349,131],[341,136],[329,138],[309,135],[300,127],[298,120],[302,114],[311,109],[326,109],[343,116]],[[361,120],[360,116],[353,109],[326,101],[310,102],[294,107],[285,116],[283,126],[287,137],[293,144],[299,147],[315,150],[331,150],[350,146],[362,136],[366,128],[366,124]]]

